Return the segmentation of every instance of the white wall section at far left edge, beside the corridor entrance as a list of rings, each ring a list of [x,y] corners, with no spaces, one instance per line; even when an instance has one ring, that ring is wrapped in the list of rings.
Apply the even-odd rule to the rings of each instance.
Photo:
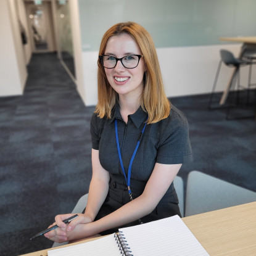
[[[20,95],[27,80],[15,0],[0,1],[0,96]]]

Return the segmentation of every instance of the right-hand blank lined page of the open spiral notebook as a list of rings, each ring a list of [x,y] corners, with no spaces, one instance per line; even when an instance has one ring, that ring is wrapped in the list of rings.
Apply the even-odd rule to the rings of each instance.
[[[209,256],[178,215],[119,231],[134,256]]]

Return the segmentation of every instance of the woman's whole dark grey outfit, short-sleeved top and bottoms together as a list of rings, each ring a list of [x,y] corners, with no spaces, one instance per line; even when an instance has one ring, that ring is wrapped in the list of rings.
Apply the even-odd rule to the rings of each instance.
[[[113,111],[112,119],[99,118],[96,114],[91,119],[93,149],[99,150],[101,165],[110,173],[109,192],[96,220],[130,202],[126,181],[118,158],[115,139],[115,118],[117,118],[119,144],[127,176],[131,156],[147,120],[147,113],[139,108],[133,115],[128,116],[126,124],[122,119],[120,107],[117,104]],[[175,164],[188,160],[192,160],[188,122],[184,114],[173,106],[168,118],[146,125],[131,169],[130,187],[133,199],[140,196],[144,191],[156,162]],[[159,220],[176,214],[180,215],[180,209],[178,207],[178,197],[172,183],[157,207],[152,213],[143,217],[142,222]],[[138,224],[138,221],[134,221],[126,226]],[[114,229],[111,229],[105,233],[112,233],[113,231]]]

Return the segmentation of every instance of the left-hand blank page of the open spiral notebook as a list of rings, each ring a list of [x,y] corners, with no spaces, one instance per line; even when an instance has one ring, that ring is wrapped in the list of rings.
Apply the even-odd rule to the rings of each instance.
[[[48,256],[120,256],[114,234],[83,244],[48,250]]]

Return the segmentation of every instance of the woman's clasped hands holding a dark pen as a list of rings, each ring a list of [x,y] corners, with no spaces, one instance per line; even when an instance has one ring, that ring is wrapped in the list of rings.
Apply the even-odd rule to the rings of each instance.
[[[93,221],[91,217],[89,217],[89,215],[78,213],[78,218],[75,218],[74,220],[70,221],[70,223],[65,224],[63,222],[63,220],[72,216],[73,213],[57,215],[55,217],[56,222],[53,223],[51,226],[57,224],[59,228],[56,228],[44,234],[44,236],[47,237],[48,239],[51,239],[54,242],[71,241],[73,239],[76,239],[76,236],[79,235],[81,231],[81,226],[83,226],[81,224],[86,224]],[[51,228],[51,226],[49,226],[48,228]],[[73,231],[73,229],[75,230]]]

